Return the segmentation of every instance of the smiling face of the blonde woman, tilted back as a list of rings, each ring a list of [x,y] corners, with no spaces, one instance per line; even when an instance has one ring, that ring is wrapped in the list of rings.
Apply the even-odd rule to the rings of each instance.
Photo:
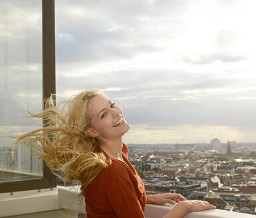
[[[90,116],[89,134],[99,140],[112,140],[122,137],[130,126],[124,120],[121,108],[103,96],[97,95],[90,99],[87,107]]]

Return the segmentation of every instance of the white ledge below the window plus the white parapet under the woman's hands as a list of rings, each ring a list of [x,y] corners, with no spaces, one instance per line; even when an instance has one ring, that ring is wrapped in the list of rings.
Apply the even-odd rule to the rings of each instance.
[[[67,209],[69,211],[77,211],[86,213],[84,199],[80,203],[78,197],[79,186],[75,189],[70,187],[59,186],[53,190],[42,189],[41,192],[18,191],[10,195],[10,193],[0,194],[0,217],[9,217],[14,215],[23,215],[29,213],[38,213],[42,211],[53,211],[57,209]],[[147,218],[163,217],[172,209],[172,205],[146,205],[144,211]],[[45,216],[49,217],[49,216]],[[188,213],[185,218],[255,218],[255,215],[246,213],[236,213],[219,209]]]

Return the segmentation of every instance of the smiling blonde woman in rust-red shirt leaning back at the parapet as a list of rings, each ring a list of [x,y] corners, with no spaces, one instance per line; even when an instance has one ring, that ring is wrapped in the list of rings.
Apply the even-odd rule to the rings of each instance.
[[[144,184],[128,160],[122,136],[130,126],[122,110],[98,90],[88,90],[33,118],[44,117],[45,128],[18,138],[27,142],[53,172],[81,184],[88,217],[144,217],[146,203],[178,203],[164,217],[184,217],[191,211],[214,209],[206,201],[187,201],[176,193],[146,195]],[[38,146],[38,142],[41,145]]]

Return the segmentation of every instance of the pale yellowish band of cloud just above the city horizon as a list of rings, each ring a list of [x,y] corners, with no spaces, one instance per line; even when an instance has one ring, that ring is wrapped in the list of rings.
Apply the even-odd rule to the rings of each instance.
[[[247,132],[230,126],[209,126],[209,125],[184,125],[166,126],[152,129],[150,126],[131,126],[129,132],[124,135],[126,144],[186,144],[186,143],[209,143],[211,138],[219,138],[225,143],[232,139],[237,142],[252,142],[253,132]]]

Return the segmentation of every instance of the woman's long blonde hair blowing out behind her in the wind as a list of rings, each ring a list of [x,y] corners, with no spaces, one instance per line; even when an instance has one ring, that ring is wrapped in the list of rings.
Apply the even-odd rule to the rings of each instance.
[[[96,152],[98,142],[87,134],[90,128],[87,106],[96,95],[106,97],[99,90],[87,90],[71,96],[58,106],[55,106],[55,96],[52,95],[45,102],[43,112],[29,112],[31,118],[43,118],[43,126],[22,136],[13,136],[17,138],[13,151],[17,144],[29,144],[55,175],[72,185],[79,181],[80,195],[102,169],[111,164],[104,154]],[[57,171],[63,171],[64,177]]]

